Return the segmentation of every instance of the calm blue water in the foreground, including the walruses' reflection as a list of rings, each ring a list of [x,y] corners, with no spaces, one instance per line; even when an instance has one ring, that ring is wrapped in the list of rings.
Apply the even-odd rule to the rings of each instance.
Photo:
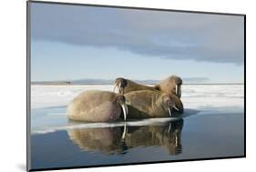
[[[237,157],[244,154],[242,109],[185,109],[182,118],[97,125],[69,122],[63,115],[65,111],[66,106],[32,110],[32,168]]]

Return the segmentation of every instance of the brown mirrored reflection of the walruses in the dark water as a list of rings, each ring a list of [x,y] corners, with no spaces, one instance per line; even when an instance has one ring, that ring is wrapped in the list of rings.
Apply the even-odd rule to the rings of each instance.
[[[181,153],[183,119],[155,126],[116,126],[67,130],[69,138],[83,151],[124,154],[133,147],[165,147],[169,155]]]

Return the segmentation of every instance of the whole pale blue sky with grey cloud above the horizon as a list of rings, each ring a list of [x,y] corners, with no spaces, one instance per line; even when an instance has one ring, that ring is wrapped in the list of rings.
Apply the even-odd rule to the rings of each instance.
[[[243,17],[31,3],[32,81],[243,82]]]

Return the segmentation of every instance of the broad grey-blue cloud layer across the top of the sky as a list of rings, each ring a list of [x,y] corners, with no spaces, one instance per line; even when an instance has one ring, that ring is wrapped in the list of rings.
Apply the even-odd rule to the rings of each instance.
[[[243,16],[32,3],[32,38],[243,64]]]

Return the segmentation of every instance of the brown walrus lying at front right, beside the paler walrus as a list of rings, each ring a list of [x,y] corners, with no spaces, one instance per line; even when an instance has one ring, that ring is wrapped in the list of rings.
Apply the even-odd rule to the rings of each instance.
[[[182,102],[177,96],[172,94],[140,90],[128,92],[124,96],[126,96],[126,103],[128,105],[128,118],[169,117],[167,106],[165,106],[167,97],[179,108],[179,112],[175,112],[175,109],[171,107],[172,115],[179,116],[183,113]]]

